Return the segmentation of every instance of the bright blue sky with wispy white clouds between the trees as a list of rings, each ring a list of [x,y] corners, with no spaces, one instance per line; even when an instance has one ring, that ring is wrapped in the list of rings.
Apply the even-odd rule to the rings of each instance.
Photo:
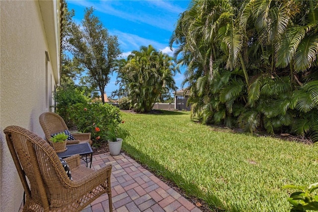
[[[190,0],[68,0],[68,8],[75,10],[73,20],[80,23],[84,9],[93,6],[94,14],[99,17],[111,35],[117,35],[123,57],[140,46],[152,45],[157,50],[172,56],[169,38],[179,14],[187,9]],[[181,74],[174,77],[180,89]],[[111,95],[115,86],[116,74],[111,76],[105,92]]]

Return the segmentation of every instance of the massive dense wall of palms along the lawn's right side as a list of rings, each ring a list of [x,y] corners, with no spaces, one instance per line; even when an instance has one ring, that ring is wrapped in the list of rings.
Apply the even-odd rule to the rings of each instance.
[[[191,116],[317,141],[317,3],[191,1],[170,38],[187,66]]]

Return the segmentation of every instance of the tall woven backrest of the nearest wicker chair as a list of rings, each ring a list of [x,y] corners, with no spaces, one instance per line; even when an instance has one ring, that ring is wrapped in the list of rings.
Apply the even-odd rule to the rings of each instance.
[[[52,194],[59,195],[57,191],[63,190],[63,182],[70,181],[59,157],[48,142],[22,127],[8,126],[3,132],[26,200],[35,203],[34,211],[42,207],[48,210],[49,205],[54,204]]]

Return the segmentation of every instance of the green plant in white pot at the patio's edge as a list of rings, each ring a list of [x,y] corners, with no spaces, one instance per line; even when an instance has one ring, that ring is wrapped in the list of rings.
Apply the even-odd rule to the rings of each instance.
[[[119,155],[123,139],[117,138],[117,126],[110,124],[106,131],[105,138],[108,141],[110,155]]]

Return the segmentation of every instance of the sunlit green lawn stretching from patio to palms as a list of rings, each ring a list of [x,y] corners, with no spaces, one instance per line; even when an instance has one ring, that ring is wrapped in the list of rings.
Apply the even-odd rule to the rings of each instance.
[[[189,112],[122,116],[122,148],[211,210],[288,211],[284,185],[318,182],[316,145],[214,131]]]

